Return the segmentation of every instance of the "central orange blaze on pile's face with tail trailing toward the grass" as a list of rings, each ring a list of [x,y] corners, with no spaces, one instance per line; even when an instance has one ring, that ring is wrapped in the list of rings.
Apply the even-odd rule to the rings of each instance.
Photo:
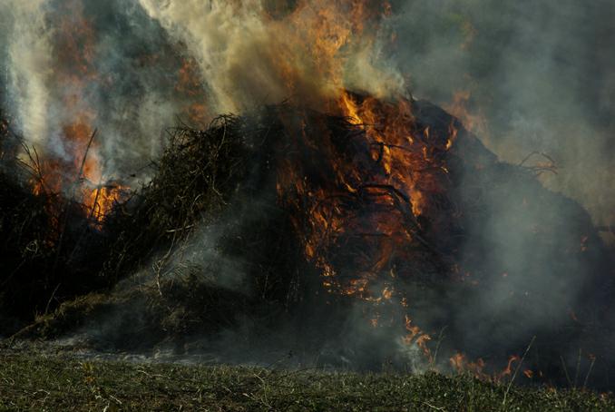
[[[297,135],[288,152],[299,154],[278,166],[278,197],[323,288],[373,304],[373,328],[401,318],[402,342],[429,360],[430,334],[408,314],[412,297],[393,284],[412,280],[414,253],[429,250],[425,221],[442,223],[436,201],[448,184],[443,159],[456,131],[443,136],[421,128],[403,98],[342,90],[331,107],[347,130],[343,136],[310,112],[288,119],[289,133]]]

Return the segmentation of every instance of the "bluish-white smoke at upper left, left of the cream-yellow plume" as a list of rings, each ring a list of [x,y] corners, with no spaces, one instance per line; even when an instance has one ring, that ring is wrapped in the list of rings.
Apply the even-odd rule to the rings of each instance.
[[[9,1],[0,10],[2,104],[42,159],[81,162],[97,129],[88,158],[100,171],[86,177],[136,184],[176,116],[206,122],[200,84],[188,93],[181,78],[190,75],[181,45],[136,3]]]

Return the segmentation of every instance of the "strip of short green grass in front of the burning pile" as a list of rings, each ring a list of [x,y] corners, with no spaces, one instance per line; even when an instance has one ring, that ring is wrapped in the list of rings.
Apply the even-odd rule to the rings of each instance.
[[[469,376],[134,363],[0,350],[0,410],[615,410],[615,397]]]

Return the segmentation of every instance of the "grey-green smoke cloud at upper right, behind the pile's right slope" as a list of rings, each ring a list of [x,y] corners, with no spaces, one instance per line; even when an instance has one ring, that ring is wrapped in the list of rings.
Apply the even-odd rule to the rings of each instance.
[[[577,2],[399,1],[393,53],[413,93],[483,116],[480,137],[507,162],[533,151],[560,167],[544,182],[615,221],[615,5]]]

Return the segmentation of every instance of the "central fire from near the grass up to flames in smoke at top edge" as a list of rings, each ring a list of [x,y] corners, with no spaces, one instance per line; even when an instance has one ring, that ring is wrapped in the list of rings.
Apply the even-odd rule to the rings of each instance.
[[[410,100],[383,98],[375,93],[378,87],[369,95],[348,91],[350,52],[374,41],[362,35],[370,32],[366,26],[374,15],[390,13],[388,4],[347,0],[298,2],[288,16],[292,29],[280,30],[288,34],[282,49],[299,50],[314,65],[283,54],[278,70],[287,89],[301,92],[315,82],[302,94],[307,108],[317,100],[317,107],[339,116],[339,126],[352,132],[337,136],[309,110],[282,114],[289,134],[297,136],[288,152],[305,154],[278,165],[278,198],[291,211],[304,256],[319,270],[323,289],[373,304],[367,319],[374,328],[400,321],[403,343],[430,358],[430,336],[411,324],[405,312],[412,299],[393,287],[393,279],[415,275],[407,262],[417,244],[427,244],[424,221],[434,216],[434,197],[445,190],[442,157],[456,131],[432,135],[415,124]],[[379,83],[376,78],[372,83]],[[395,269],[396,262],[402,270]]]

